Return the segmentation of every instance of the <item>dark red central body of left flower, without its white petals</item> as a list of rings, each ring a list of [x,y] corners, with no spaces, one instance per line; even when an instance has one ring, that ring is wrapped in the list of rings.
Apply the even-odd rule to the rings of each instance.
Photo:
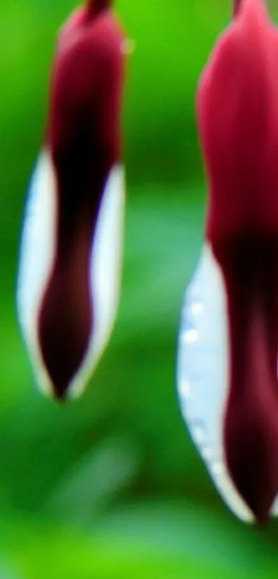
[[[90,25],[78,21],[71,35],[72,46],[59,52],[52,82],[48,148],[58,222],[54,267],[39,314],[41,353],[59,398],[94,330],[90,253],[106,181],[121,157],[121,32],[106,12]]]

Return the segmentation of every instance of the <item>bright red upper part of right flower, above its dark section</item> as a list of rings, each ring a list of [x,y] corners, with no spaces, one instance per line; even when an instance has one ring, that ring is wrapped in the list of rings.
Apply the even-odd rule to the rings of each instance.
[[[277,102],[278,32],[261,0],[244,0],[199,89],[209,238],[278,231]]]

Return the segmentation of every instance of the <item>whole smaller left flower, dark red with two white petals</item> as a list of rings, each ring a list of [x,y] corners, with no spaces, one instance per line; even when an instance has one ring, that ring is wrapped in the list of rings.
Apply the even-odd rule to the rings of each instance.
[[[21,242],[18,311],[37,383],[78,395],[108,342],[121,277],[125,39],[110,0],[61,30]]]

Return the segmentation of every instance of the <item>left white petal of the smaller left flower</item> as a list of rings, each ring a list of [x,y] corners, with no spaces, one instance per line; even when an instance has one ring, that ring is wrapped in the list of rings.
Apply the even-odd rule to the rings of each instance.
[[[37,322],[41,298],[54,259],[57,215],[56,181],[50,154],[43,150],[28,193],[21,236],[17,310],[39,388],[52,394],[52,384],[41,360]]]

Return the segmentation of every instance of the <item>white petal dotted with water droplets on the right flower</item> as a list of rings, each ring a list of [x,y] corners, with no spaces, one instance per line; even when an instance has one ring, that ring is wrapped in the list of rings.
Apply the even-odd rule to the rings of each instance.
[[[226,295],[221,271],[204,246],[186,292],[179,334],[177,382],[183,418],[228,507],[242,520],[252,513],[226,467],[223,420],[228,393]]]

